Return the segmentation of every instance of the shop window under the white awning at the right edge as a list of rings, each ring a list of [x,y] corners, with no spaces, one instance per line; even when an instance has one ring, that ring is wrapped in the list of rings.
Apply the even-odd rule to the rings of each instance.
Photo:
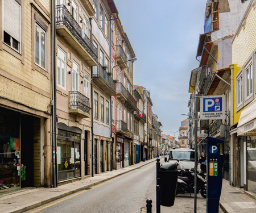
[[[255,137],[255,136],[254,136]],[[256,140],[247,140],[248,191],[256,192]]]

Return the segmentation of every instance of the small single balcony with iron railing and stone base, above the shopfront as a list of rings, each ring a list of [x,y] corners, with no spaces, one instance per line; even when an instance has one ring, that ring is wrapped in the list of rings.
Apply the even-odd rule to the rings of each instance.
[[[90,117],[90,99],[79,91],[69,91],[69,113],[81,118]]]

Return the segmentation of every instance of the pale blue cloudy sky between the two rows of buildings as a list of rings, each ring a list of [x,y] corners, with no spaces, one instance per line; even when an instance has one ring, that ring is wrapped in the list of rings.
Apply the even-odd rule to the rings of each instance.
[[[207,0],[114,0],[137,57],[134,85],[150,91],[152,111],[166,135],[179,136],[187,119],[191,70],[204,33]],[[175,132],[175,133],[174,133]]]

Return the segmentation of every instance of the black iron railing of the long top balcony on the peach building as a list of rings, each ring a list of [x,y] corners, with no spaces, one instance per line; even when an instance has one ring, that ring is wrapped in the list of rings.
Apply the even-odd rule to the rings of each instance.
[[[89,37],[82,33],[82,29],[65,5],[56,5],[56,26],[64,25],[72,33],[73,36],[79,41],[84,49],[98,61],[97,48],[90,41]]]

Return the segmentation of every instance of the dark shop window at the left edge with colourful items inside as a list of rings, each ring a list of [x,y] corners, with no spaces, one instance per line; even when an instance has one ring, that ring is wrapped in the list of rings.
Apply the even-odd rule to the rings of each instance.
[[[0,191],[20,186],[19,112],[0,107]]]

